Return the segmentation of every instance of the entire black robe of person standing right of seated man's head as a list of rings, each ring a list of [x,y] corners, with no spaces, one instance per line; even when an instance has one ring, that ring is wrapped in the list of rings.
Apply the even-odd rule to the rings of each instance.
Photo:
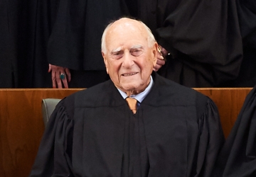
[[[138,4],[133,14],[172,55],[159,74],[189,87],[219,86],[238,77],[242,38],[235,1],[138,0]]]

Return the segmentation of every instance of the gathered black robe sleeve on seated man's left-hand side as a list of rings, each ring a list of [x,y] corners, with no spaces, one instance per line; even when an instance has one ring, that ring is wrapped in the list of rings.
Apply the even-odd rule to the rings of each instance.
[[[50,116],[30,176],[73,176],[68,155],[72,144],[68,139],[72,135],[73,120],[60,101]]]

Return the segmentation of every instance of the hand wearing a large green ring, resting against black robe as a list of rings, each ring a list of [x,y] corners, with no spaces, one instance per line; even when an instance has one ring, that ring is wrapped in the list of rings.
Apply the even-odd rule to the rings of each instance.
[[[49,64],[48,72],[51,72],[54,89],[63,89],[63,86],[65,89],[68,89],[68,82],[71,80],[71,74],[68,68]],[[60,79],[60,74],[65,74],[63,79]]]

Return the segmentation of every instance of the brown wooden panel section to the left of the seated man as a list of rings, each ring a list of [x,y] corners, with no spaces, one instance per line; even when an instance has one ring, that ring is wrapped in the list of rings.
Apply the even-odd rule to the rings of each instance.
[[[63,98],[75,89],[0,89],[0,176],[25,177],[43,135],[42,98]]]

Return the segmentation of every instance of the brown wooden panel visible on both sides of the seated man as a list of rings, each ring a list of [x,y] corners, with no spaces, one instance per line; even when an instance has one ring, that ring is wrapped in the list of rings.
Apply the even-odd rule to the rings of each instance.
[[[31,171],[44,125],[43,98],[63,98],[80,89],[0,89],[0,176],[25,177]],[[218,106],[225,136],[235,122],[245,89],[196,89]]]

